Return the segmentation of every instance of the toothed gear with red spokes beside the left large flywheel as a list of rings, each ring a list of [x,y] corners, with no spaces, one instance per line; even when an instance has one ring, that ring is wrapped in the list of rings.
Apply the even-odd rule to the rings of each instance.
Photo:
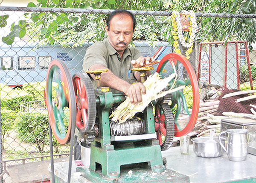
[[[93,84],[86,73],[76,73],[72,80],[76,95],[76,126],[80,132],[90,132],[96,119]]]

